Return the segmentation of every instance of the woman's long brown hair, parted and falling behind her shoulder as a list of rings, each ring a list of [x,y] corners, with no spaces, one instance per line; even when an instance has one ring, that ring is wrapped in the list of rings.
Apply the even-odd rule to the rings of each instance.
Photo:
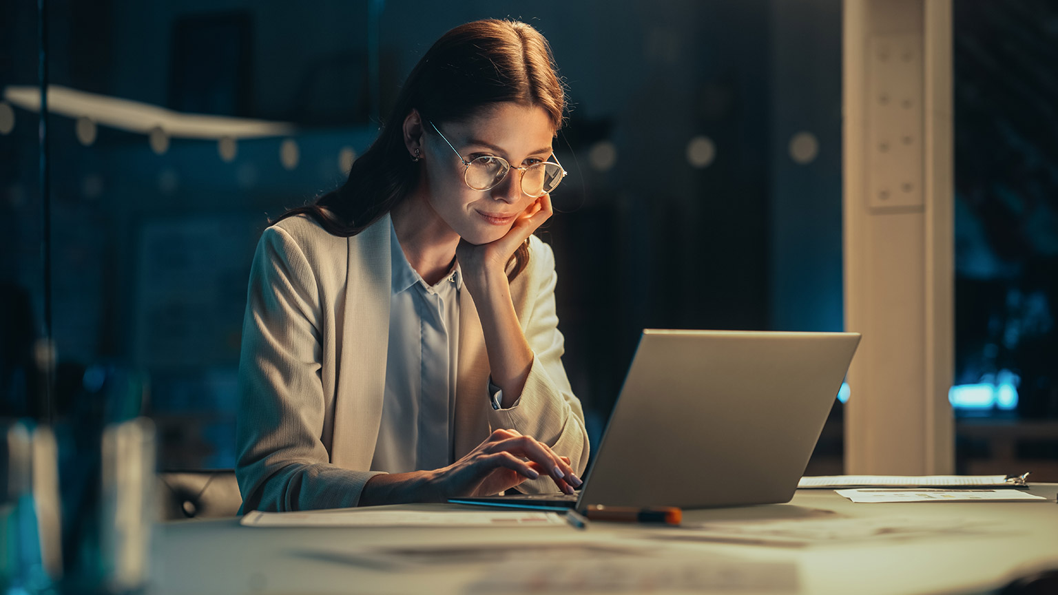
[[[497,19],[449,31],[412,70],[379,138],[353,162],[349,179],[276,221],[304,213],[333,235],[359,234],[403,200],[419,179],[419,164],[407,154],[402,130],[413,109],[419,110],[423,122],[440,125],[504,102],[542,107],[555,131],[562,127],[565,88],[547,39],[524,22]],[[527,241],[511,256],[508,278],[517,276],[528,263]]]

